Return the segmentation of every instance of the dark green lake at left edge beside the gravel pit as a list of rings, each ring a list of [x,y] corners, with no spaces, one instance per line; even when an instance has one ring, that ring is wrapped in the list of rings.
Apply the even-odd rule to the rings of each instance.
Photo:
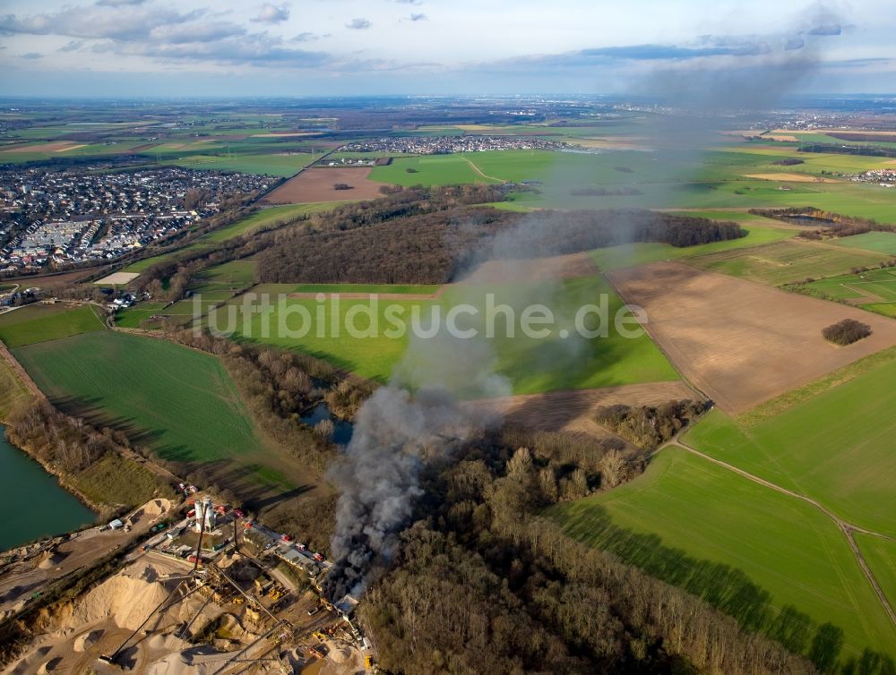
[[[32,539],[63,534],[88,525],[96,517],[47,474],[43,466],[13,448],[0,425],[0,551]]]

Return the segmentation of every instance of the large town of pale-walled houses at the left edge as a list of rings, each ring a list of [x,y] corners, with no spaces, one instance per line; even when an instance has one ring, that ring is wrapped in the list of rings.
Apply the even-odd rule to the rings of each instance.
[[[270,184],[263,175],[177,167],[0,171],[0,271],[113,260]]]

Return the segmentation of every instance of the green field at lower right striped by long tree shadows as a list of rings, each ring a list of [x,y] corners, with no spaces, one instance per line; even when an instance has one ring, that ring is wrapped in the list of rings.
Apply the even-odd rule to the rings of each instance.
[[[842,631],[840,661],[866,647],[896,656],[896,630],[837,525],[804,501],[685,450],[664,449],[633,482],[549,514],[567,534],[784,638],[794,651],[810,654],[821,629]]]

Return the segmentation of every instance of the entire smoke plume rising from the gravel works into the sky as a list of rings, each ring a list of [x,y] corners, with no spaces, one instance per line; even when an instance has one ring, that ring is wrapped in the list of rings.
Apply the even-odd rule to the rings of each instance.
[[[825,39],[818,36],[836,34],[832,29],[816,27],[830,27],[836,21],[831,13],[816,7],[799,17],[799,25],[788,33],[755,38],[745,55],[732,57],[728,64],[683,64],[646,73],[641,81],[633,82],[633,91],[650,94],[665,106],[653,115],[652,124],[645,124],[642,134],[642,146],[657,165],[650,172],[652,200],[665,203],[644,206],[665,206],[674,201],[672,192],[662,192],[663,188],[658,190],[656,186],[681,182],[686,178],[683,172],[699,173],[703,153],[719,141],[713,132],[731,124],[732,118],[745,110],[771,107],[810,75],[819,62],[817,40]],[[581,175],[554,178],[554,184],[582,184]],[[633,187],[642,180],[637,175],[630,179],[620,175],[619,179],[619,184],[632,181]],[[626,226],[619,223],[621,233]],[[535,213],[499,235],[492,250],[478,258],[477,262],[501,261],[500,274],[508,282],[500,284],[501,303],[517,309],[529,303],[550,306],[552,298],[567,292],[560,279],[540,280],[537,286],[518,283],[520,263],[515,260],[546,254],[556,235]],[[470,284],[454,289],[454,303],[481,305],[481,287]],[[583,303],[592,300],[582,298]],[[556,328],[564,327],[568,320],[557,316]],[[477,321],[471,320],[471,325],[480,330],[481,336],[483,327]],[[588,348],[584,338],[574,335],[564,340],[548,339],[530,352],[530,365],[576,368]],[[390,384],[377,390],[361,407],[352,440],[331,472],[332,482],[340,491],[332,538],[336,563],[324,579],[323,592],[333,602],[345,594],[362,594],[392,560],[398,533],[413,517],[422,494],[419,479],[426,462],[451,457],[462,443],[501,422],[494,415],[478,413],[475,406],[458,403],[461,399],[509,395],[510,384],[496,374],[497,368],[492,343],[484,337],[460,339],[444,330],[430,339],[411,336]]]

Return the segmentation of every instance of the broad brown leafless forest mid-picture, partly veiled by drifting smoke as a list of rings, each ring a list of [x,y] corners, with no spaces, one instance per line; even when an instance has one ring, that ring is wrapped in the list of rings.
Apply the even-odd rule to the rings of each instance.
[[[495,252],[495,237],[515,257],[590,251],[631,242],[693,246],[745,236],[736,223],[646,209],[539,211],[521,214],[469,204],[387,203],[382,217],[320,218],[274,233],[256,255],[263,283],[443,284]],[[395,195],[391,195],[395,197]],[[478,203],[478,202],[477,202]],[[373,214],[370,214],[373,215]],[[519,226],[513,230],[514,226]]]

